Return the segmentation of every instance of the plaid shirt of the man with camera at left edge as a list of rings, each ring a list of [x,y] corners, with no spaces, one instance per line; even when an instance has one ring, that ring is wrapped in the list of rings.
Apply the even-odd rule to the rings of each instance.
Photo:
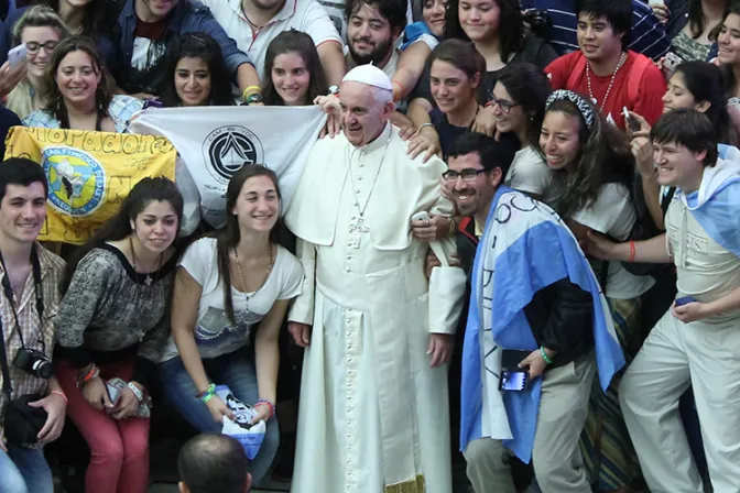
[[[42,350],[44,349],[41,340],[43,339],[46,355],[51,358],[54,349],[54,324],[53,318],[59,306],[59,281],[64,272],[64,261],[36,243],[39,251],[39,261],[41,264],[41,288],[44,293],[44,320],[39,330],[39,313],[36,311],[36,294],[33,282],[33,270],[29,273],[23,287],[20,303],[15,296],[15,310],[18,313],[18,322],[23,332],[23,340],[26,348]],[[6,275],[0,264],[0,280]],[[13,358],[21,348],[21,338],[15,330],[15,318],[13,309],[8,302],[4,293],[0,289],[0,317],[2,318],[2,337],[6,342],[8,355],[8,366],[10,370],[10,380],[13,386],[12,398],[18,398],[28,394],[45,394],[47,381],[31,376],[23,370],[15,368]],[[2,374],[0,373],[0,388],[2,388]],[[0,392],[0,409],[4,409],[6,394]],[[2,423],[0,421],[0,429]]]

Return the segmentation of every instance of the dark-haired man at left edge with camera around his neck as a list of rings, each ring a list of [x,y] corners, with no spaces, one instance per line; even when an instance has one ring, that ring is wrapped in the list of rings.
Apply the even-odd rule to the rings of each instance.
[[[44,172],[33,161],[13,157],[0,164],[0,333],[6,350],[0,361],[2,373],[10,374],[10,381],[0,379],[2,492],[53,493],[43,446],[56,440],[64,427],[67,397],[54,376],[39,370],[51,370],[54,326],[50,315],[59,304],[64,270],[64,261],[36,242],[46,219],[47,191]],[[8,419],[11,401],[44,409],[45,423],[35,437],[18,442],[19,424]]]

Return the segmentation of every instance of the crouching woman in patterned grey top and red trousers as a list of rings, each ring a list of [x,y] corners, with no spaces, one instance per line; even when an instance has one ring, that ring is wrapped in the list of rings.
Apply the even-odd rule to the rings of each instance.
[[[55,370],[67,415],[90,447],[88,493],[146,491],[146,394],[170,333],[182,215],[174,183],[144,178],[67,263]]]

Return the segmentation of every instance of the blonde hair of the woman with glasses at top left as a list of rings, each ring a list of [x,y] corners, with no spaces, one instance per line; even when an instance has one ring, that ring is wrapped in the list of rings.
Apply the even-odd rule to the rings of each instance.
[[[13,46],[21,44],[25,28],[52,28],[59,35],[59,41],[69,35],[69,29],[54,10],[46,6],[35,6],[29,9],[13,28]],[[8,95],[6,107],[18,114],[21,120],[31,114],[41,106],[40,87],[33,87],[29,76],[18,83]]]

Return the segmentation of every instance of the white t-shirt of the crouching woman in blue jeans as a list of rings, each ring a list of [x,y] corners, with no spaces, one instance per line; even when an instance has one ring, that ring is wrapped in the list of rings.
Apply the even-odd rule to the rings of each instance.
[[[242,348],[249,343],[252,327],[262,320],[276,300],[292,299],[301,294],[303,267],[287,250],[278,246],[275,264],[264,286],[249,302],[244,293],[231,286],[233,327],[224,307],[224,283],[218,275],[216,239],[203,238],[193,243],[179,261],[179,265],[203,286],[198,318],[195,326],[195,342],[200,358],[216,358]],[[248,293],[251,295],[251,293]],[[178,355],[172,337],[162,352],[161,361]]]

